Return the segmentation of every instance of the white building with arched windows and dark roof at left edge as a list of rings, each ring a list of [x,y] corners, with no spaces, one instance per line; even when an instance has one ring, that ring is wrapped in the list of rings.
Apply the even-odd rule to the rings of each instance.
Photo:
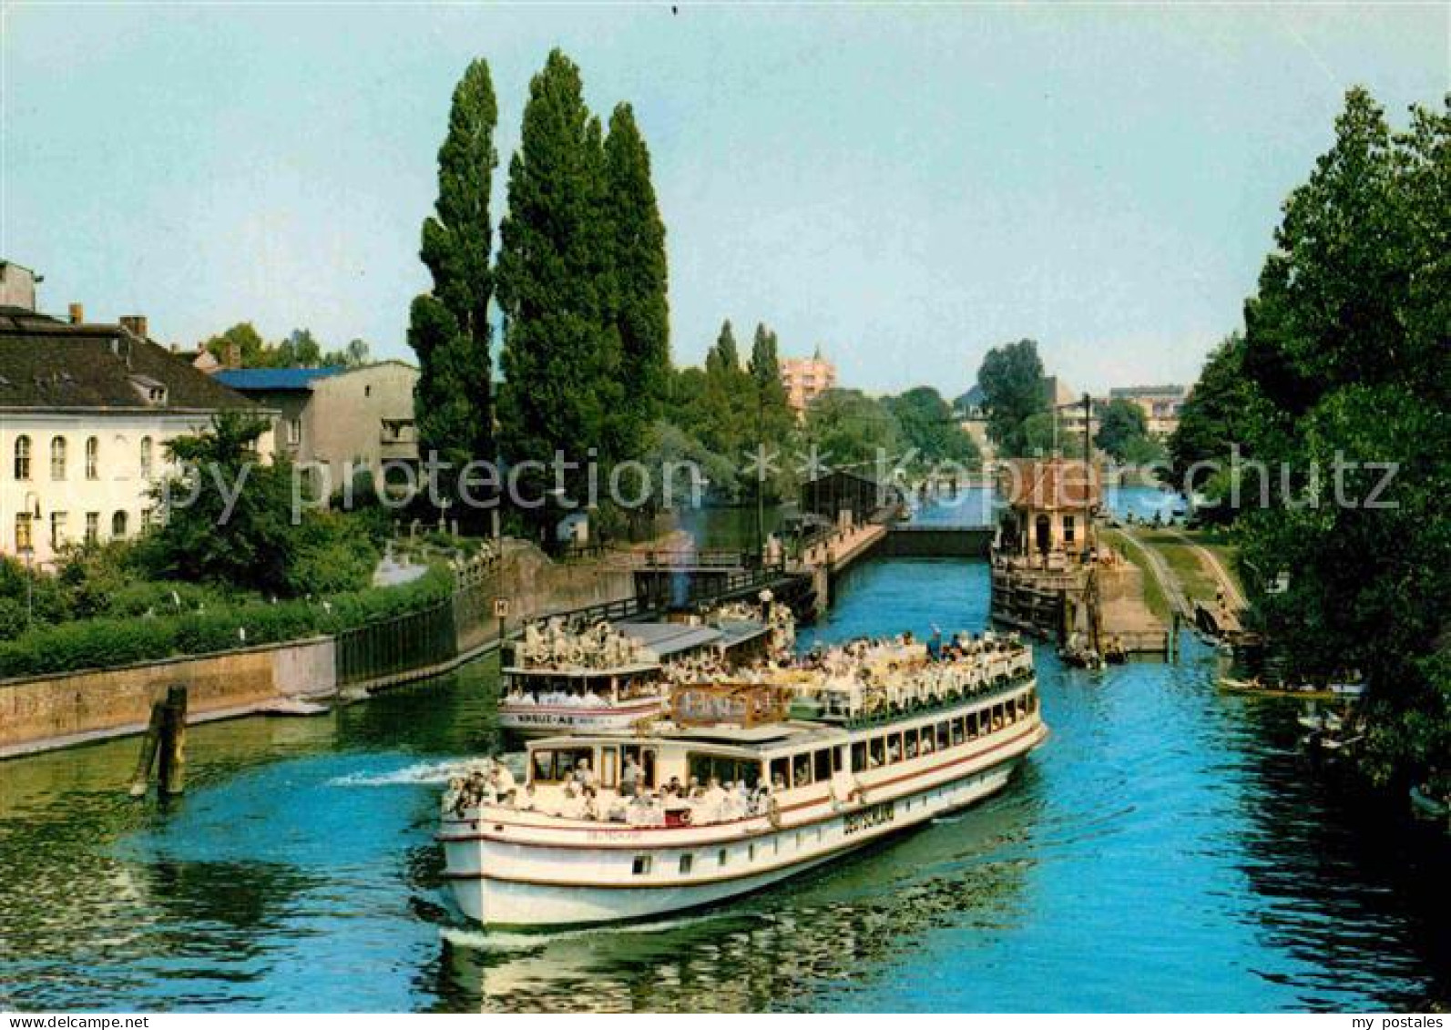
[[[0,553],[41,564],[67,543],[141,532],[167,441],[222,411],[270,415],[149,341],[144,318],[86,324],[78,305],[71,318],[0,306]],[[270,456],[271,435],[258,447]]]

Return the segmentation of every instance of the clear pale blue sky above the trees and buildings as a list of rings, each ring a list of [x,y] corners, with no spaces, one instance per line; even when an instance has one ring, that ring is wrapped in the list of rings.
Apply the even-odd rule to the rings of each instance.
[[[1074,386],[1193,380],[1345,88],[1397,125],[1451,88],[1448,4],[4,9],[0,254],[46,309],[409,357],[454,81],[489,59],[502,209],[560,45],[651,147],[678,361],[763,319],[949,396],[1020,337]]]

